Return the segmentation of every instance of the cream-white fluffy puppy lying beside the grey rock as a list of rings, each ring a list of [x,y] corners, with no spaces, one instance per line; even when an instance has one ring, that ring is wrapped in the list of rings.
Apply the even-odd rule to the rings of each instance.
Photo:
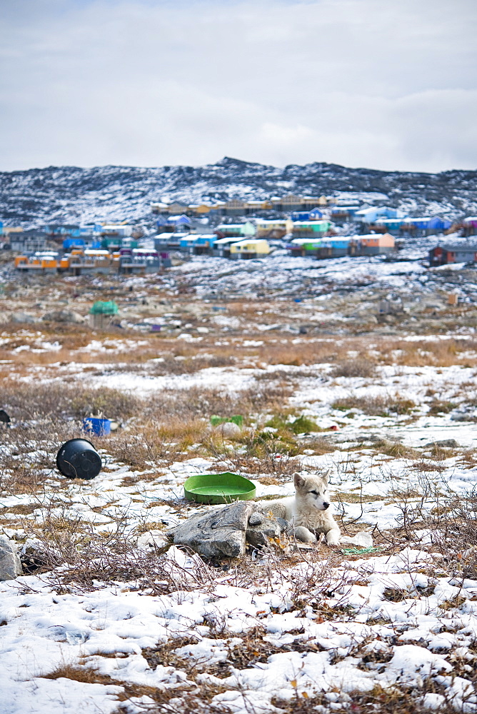
[[[261,511],[271,511],[276,518],[289,521],[298,540],[314,543],[316,535],[324,533],[328,545],[338,545],[341,533],[329,511],[328,473],[324,476],[300,476],[295,473],[295,496],[261,501]]]

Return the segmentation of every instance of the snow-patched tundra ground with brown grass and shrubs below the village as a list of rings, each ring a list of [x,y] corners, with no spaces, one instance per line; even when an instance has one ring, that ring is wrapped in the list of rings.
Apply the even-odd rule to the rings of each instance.
[[[234,270],[221,300],[184,266],[7,281],[0,532],[24,566],[0,583],[12,711],[34,696],[87,713],[476,711],[473,303],[448,305],[440,278],[428,308],[406,283],[406,313],[382,318],[379,281],[295,303],[266,285],[243,297],[248,268]],[[60,299],[86,315],[111,296],[121,325],[41,320]],[[237,414],[236,433],[211,426]],[[64,478],[56,453],[89,416],[119,425],[87,436],[104,466]],[[241,473],[263,500],[328,468],[341,533],[372,548],[283,535],[210,562],[166,538],[204,508],[184,500],[188,476]]]

